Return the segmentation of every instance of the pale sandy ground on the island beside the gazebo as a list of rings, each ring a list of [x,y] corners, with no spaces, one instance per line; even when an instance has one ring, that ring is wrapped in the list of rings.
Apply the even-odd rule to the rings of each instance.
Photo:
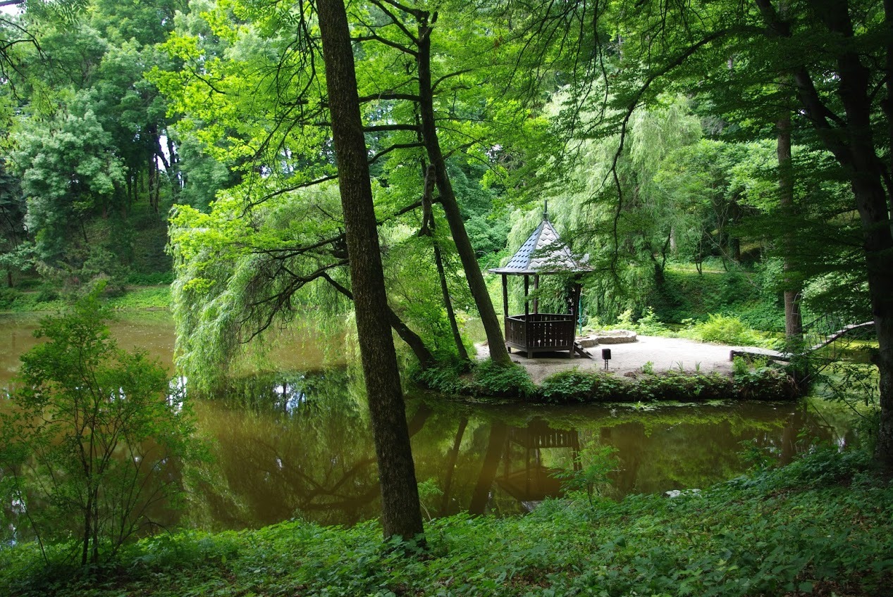
[[[729,353],[733,350],[760,352],[778,355],[778,352],[755,348],[753,346],[728,346],[724,344],[706,344],[684,338],[664,338],[661,336],[638,336],[636,342],[628,344],[599,344],[587,349],[592,359],[583,359],[577,355],[569,359],[567,352],[556,352],[548,356],[528,359],[523,353],[512,352],[512,361],[522,365],[530,373],[534,383],[542,383],[543,379],[562,369],[604,369],[602,348],[611,349],[611,361],[608,370],[615,375],[630,372],[642,372],[647,362],[655,372],[682,370],[686,373],[730,373],[731,361]],[[488,347],[478,345],[478,358],[489,355]]]

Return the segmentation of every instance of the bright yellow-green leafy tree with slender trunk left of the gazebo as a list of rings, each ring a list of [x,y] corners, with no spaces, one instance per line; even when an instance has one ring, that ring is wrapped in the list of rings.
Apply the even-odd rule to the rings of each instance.
[[[285,4],[238,2],[213,7],[209,4],[209,11],[203,14],[207,18],[207,27],[212,29],[210,35],[197,34],[202,27],[200,24],[190,22],[187,28],[184,22],[183,27],[178,26],[178,35],[168,44],[171,52],[186,63],[186,68],[153,75],[164,92],[170,95],[171,105],[186,114],[180,128],[200,133],[205,141],[204,151],[220,156],[239,170],[242,180],[233,188],[233,194],[238,193],[246,199],[246,210],[249,211],[255,211],[262,203],[275,200],[281,194],[297,195],[300,189],[325,185],[337,176],[328,138],[330,122],[325,113],[326,99],[320,88],[322,79],[317,77],[317,56],[313,47],[295,43],[295,20],[300,21],[299,13],[303,10],[303,5],[286,7]],[[432,203],[447,206],[448,227],[462,261],[464,277],[453,278],[462,279],[468,286],[467,292],[472,294],[474,305],[486,319],[490,344],[496,346],[492,356],[497,360],[505,357],[507,361],[507,352],[500,350],[504,344],[501,329],[483,284],[476,255],[464,231],[463,218],[468,214],[463,212],[462,197],[457,198],[455,190],[451,190],[449,179],[451,171],[461,168],[455,165],[461,163],[460,158],[471,161],[472,158],[464,153],[469,147],[474,146],[475,152],[481,155],[485,153],[481,148],[483,144],[473,141],[476,133],[472,129],[474,126],[480,128],[477,123],[485,119],[472,112],[474,106],[469,108],[467,115],[451,113],[447,109],[450,104],[459,104],[455,90],[468,85],[458,79],[462,66],[455,61],[447,64],[442,73],[440,70],[430,72],[433,77],[429,81],[430,106],[424,116],[421,114],[420,106],[424,102],[413,89],[418,86],[414,71],[420,68],[413,50],[418,35],[410,33],[407,41],[401,38],[400,31],[424,29],[428,19],[432,20],[430,25],[436,21],[421,8],[417,10],[402,4],[355,3],[350,6],[349,20],[353,26],[356,52],[364,58],[358,67],[358,92],[364,134],[371,150],[369,161],[376,183],[373,193],[380,215],[380,236],[388,253],[396,245],[408,244],[409,229],[424,228],[423,225],[420,227],[420,220],[424,221],[425,217],[420,217],[422,202],[419,195],[423,187],[422,173],[428,171],[430,162],[438,169],[438,175],[432,178],[436,178],[439,189],[438,195],[431,197]],[[301,33],[305,34],[312,35],[313,31]],[[396,37],[396,41],[392,37]],[[448,39],[447,36],[442,38]],[[209,40],[213,39],[219,43],[212,44]],[[261,39],[263,45],[258,43]],[[444,47],[424,61],[429,70],[432,65],[439,69],[441,57],[451,55],[447,51],[448,43],[445,41]],[[405,47],[396,49],[400,44]],[[492,46],[489,41],[487,45]],[[477,64],[484,61],[479,57]],[[393,69],[392,65],[397,62],[405,63],[408,70]],[[405,89],[412,93],[403,93]],[[295,101],[295,97],[301,99]],[[435,98],[437,104],[433,104]],[[423,122],[433,122],[434,118],[438,120],[439,130],[423,133]],[[475,124],[469,125],[469,122]],[[444,133],[444,130],[448,132]],[[250,160],[244,160],[246,155],[250,155]],[[447,167],[448,161],[453,162],[451,167]],[[410,164],[413,167],[406,168]],[[337,222],[340,214],[331,213],[331,216]],[[325,239],[320,238],[322,240]],[[440,243],[438,251],[445,253],[452,251],[452,247]],[[390,261],[386,254],[388,284],[400,283],[399,280],[395,283],[393,276],[409,276],[407,279],[411,279],[431,271],[421,264],[424,255],[432,255],[430,246],[416,252],[413,267],[408,267],[406,261]],[[449,259],[442,261],[446,267],[451,264]],[[280,275],[288,276],[284,269],[278,271]],[[452,289],[455,290],[455,286]],[[450,294],[450,298],[456,300],[452,291]],[[438,310],[449,311],[436,305],[437,299],[432,300],[433,297],[415,297],[416,301],[427,299],[430,303],[423,310],[413,309],[415,305],[403,301],[405,296],[401,294],[391,293],[389,298],[394,311],[416,328],[424,327],[429,318],[413,320],[410,317],[413,314],[424,311],[437,315]],[[283,311],[287,303],[280,302]],[[284,315],[285,319],[288,317],[288,314]],[[440,319],[439,315],[437,319]],[[425,337],[425,340],[435,346],[435,350],[438,346],[446,346],[446,343],[438,342],[439,337]],[[457,347],[454,352],[461,352],[455,341],[453,344]]]

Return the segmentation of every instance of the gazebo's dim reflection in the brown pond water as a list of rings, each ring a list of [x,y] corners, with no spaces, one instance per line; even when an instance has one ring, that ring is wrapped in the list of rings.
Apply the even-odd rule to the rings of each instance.
[[[530,421],[525,428],[512,427],[505,443],[503,474],[497,477],[499,486],[522,503],[560,496],[561,481],[555,477],[560,469],[547,468],[542,462],[540,451],[548,448],[569,448],[573,468],[580,469],[580,436],[576,429],[553,429],[541,419]]]

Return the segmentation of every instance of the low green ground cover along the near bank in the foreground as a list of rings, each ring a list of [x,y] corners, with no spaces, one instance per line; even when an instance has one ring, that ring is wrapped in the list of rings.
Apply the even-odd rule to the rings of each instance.
[[[672,499],[572,493],[520,518],[440,518],[425,548],[382,543],[375,522],[290,521],[156,535],[85,574],[21,545],[0,550],[0,593],[874,595],[893,581],[893,486],[867,462],[829,448]]]

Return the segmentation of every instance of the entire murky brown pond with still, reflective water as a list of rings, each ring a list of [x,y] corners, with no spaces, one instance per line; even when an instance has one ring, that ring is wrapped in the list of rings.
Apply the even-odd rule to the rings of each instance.
[[[0,386],[38,340],[32,316],[0,315]],[[113,323],[122,348],[149,352],[171,368],[166,313]],[[339,346],[338,344],[341,344]],[[339,359],[344,339],[304,329],[277,346],[280,370],[252,371],[213,399],[196,401],[213,466],[190,482],[188,523],[209,529],[260,527],[288,518],[353,524],[378,515],[379,486],[362,380]],[[279,369],[279,368],[278,368]],[[281,371],[288,371],[283,373]],[[808,449],[800,438],[838,444],[804,405],[730,402],[697,406],[537,407],[472,405],[411,391],[407,421],[426,514],[521,513],[561,486],[553,474],[587,464],[591,449],[616,449],[619,470],[605,493],[707,487],[747,468],[741,442],[781,461]],[[580,454],[580,459],[576,459]]]

